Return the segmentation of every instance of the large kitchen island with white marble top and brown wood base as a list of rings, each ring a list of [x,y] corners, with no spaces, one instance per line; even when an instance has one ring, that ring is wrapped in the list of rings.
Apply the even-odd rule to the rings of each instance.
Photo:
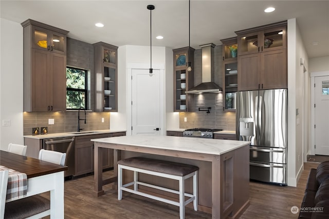
[[[238,218],[249,205],[250,142],[139,135],[92,141],[95,142],[94,178],[97,196],[104,194],[103,185],[117,181],[116,177],[102,178],[101,149],[112,148],[115,176],[117,161],[136,155],[198,166],[198,209],[212,213],[213,218]],[[160,186],[172,186],[163,178],[145,176],[144,180],[156,182],[154,184]],[[186,189],[189,189],[188,185]]]

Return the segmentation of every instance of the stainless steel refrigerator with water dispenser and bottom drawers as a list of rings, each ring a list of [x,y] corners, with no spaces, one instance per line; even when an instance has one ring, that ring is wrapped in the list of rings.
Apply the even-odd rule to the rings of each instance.
[[[236,135],[251,142],[250,179],[287,185],[287,89],[236,94]]]

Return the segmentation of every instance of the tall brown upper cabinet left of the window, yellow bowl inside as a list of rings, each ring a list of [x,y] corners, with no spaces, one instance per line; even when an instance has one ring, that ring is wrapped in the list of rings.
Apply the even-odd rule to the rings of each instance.
[[[66,34],[28,19],[24,28],[24,111],[66,110]]]

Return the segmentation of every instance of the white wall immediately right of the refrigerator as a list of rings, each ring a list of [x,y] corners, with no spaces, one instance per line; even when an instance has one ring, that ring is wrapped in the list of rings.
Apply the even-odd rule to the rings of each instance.
[[[288,165],[287,184],[296,186],[303,170],[303,153],[310,145],[308,56],[296,18],[288,20]],[[304,65],[301,65],[303,58]],[[306,71],[304,71],[304,68]],[[298,109],[298,115],[297,115]],[[303,150],[305,152],[303,152]]]

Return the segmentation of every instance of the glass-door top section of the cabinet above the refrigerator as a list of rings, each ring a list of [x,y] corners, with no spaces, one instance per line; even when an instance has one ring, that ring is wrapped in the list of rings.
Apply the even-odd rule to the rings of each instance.
[[[247,30],[235,31],[239,55],[286,48],[287,22],[279,22]]]

